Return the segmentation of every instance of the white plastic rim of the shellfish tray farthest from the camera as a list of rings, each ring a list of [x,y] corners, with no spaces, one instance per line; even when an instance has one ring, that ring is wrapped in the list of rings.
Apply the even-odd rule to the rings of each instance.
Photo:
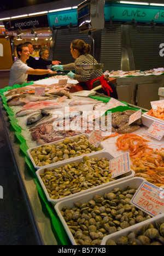
[[[77,138],[77,137],[80,137],[80,136],[83,136],[83,135],[85,135],[88,139],[89,139],[89,135],[87,134],[87,133],[83,133],[83,134],[79,134],[79,135],[76,135],[76,136],[72,136],[71,137],[71,139],[74,139],[74,138]],[[66,138],[65,138],[66,139]],[[62,141],[64,141],[64,139],[60,139],[59,141],[55,141],[55,142],[50,142],[50,143],[46,143],[46,144],[44,144],[44,145],[56,145],[58,142],[62,142]],[[44,145],[42,145],[42,146],[44,146]],[[30,148],[30,149],[28,149],[27,150],[27,154],[28,154],[28,156],[29,156],[29,158],[30,158],[30,160],[32,161],[32,164],[33,164],[33,166],[38,170],[39,168],[43,168],[43,167],[47,167],[47,165],[45,165],[45,166],[37,166],[36,165],[36,163],[34,162],[34,160],[33,160],[33,158],[32,158],[32,156],[31,156],[31,154],[30,154],[30,152],[34,149],[34,148],[39,148],[40,146],[37,146],[37,147],[33,147],[33,148]],[[105,148],[104,148],[104,146],[102,146],[102,144],[100,143],[99,144],[99,146],[98,147],[101,147],[102,148],[102,150],[105,150]],[[102,150],[99,150],[99,152],[101,152]],[[93,152],[92,152],[93,153]],[[90,154],[92,154],[92,153],[90,153]],[[87,155],[90,155],[90,154],[87,154]],[[80,156],[75,156],[75,158],[71,158],[71,159],[77,159],[77,158],[80,158]],[[68,162],[68,160],[69,159],[66,159],[66,160],[61,160],[60,161],[60,163],[67,163]],[[54,163],[55,164],[55,163]],[[48,165],[48,166],[54,166],[54,164],[50,164],[50,165]],[[58,162],[57,162],[57,164],[58,164]]]

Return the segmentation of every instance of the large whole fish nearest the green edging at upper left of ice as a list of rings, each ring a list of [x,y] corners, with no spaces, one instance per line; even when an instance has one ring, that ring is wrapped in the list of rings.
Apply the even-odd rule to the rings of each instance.
[[[20,94],[16,96],[12,96],[7,100],[8,106],[17,106],[20,104],[27,104],[31,101],[45,101],[45,100],[54,100],[53,96],[38,96],[38,95],[30,95],[30,94]]]

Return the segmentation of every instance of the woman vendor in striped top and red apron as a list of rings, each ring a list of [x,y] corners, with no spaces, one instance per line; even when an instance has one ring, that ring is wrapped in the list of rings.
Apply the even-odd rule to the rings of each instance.
[[[99,93],[103,93],[113,98],[118,98],[115,86],[107,82],[103,75],[102,69],[94,69],[92,72],[84,69],[77,68],[77,65],[81,64],[92,64],[93,57],[90,55],[91,46],[86,44],[81,39],[75,39],[71,42],[71,54],[75,59],[74,63],[69,63],[66,65],[54,65],[52,68],[57,71],[66,71],[70,72],[67,74],[69,78],[78,80],[79,85],[83,87],[83,90],[91,90],[98,85],[102,85],[102,89],[97,90]],[[94,59],[94,63],[98,63]],[[75,70],[75,73],[72,71]]]

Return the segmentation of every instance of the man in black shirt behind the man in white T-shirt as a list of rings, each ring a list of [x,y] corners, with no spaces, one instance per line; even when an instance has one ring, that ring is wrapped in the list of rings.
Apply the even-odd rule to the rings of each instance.
[[[32,43],[31,42],[26,42],[25,44],[28,46],[30,54],[32,54],[33,51],[34,51]],[[32,56],[30,56],[29,59],[26,62],[27,62],[28,67],[31,67],[31,68],[34,68],[34,69],[37,69],[40,66],[40,62],[38,62],[38,60],[36,60]],[[58,65],[59,63],[61,63],[61,62],[60,61],[48,61],[48,60],[43,60],[42,59],[41,66],[42,66],[42,69],[46,69],[45,68],[46,66]],[[27,81],[36,81],[36,80],[39,80],[39,79],[42,79],[42,78],[38,77],[37,75],[28,75],[28,77],[27,77]]]

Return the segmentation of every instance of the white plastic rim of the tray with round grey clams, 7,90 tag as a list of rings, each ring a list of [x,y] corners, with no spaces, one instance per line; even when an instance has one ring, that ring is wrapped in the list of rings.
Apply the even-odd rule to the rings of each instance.
[[[96,191],[90,191],[90,192],[88,192],[86,194],[83,194],[83,195],[74,196],[73,199],[66,199],[65,201],[61,201],[61,202],[56,203],[55,211],[57,212],[57,215],[60,218],[61,223],[63,224],[63,226],[64,226],[64,228],[67,232],[67,235],[68,235],[69,239],[72,242],[72,245],[77,245],[77,243],[75,242],[74,237],[73,237],[71,231],[69,230],[65,219],[63,218],[63,216],[61,214],[61,210],[62,210],[63,207],[72,208],[74,206],[74,202],[86,203],[89,200],[93,199],[93,196],[95,194],[103,196],[105,193],[109,193],[110,191],[112,191],[115,187],[119,187],[120,189],[125,189],[128,185],[130,185],[132,188],[138,189],[144,181],[145,181],[145,179],[143,179],[143,178],[134,177],[134,178],[131,178],[131,179],[127,179],[126,181],[120,181],[116,184],[112,184],[108,187],[99,188]],[[142,225],[143,225],[144,222],[142,222]],[[135,225],[137,225],[137,224],[135,224]],[[117,231],[117,232],[120,232],[120,231]]]

